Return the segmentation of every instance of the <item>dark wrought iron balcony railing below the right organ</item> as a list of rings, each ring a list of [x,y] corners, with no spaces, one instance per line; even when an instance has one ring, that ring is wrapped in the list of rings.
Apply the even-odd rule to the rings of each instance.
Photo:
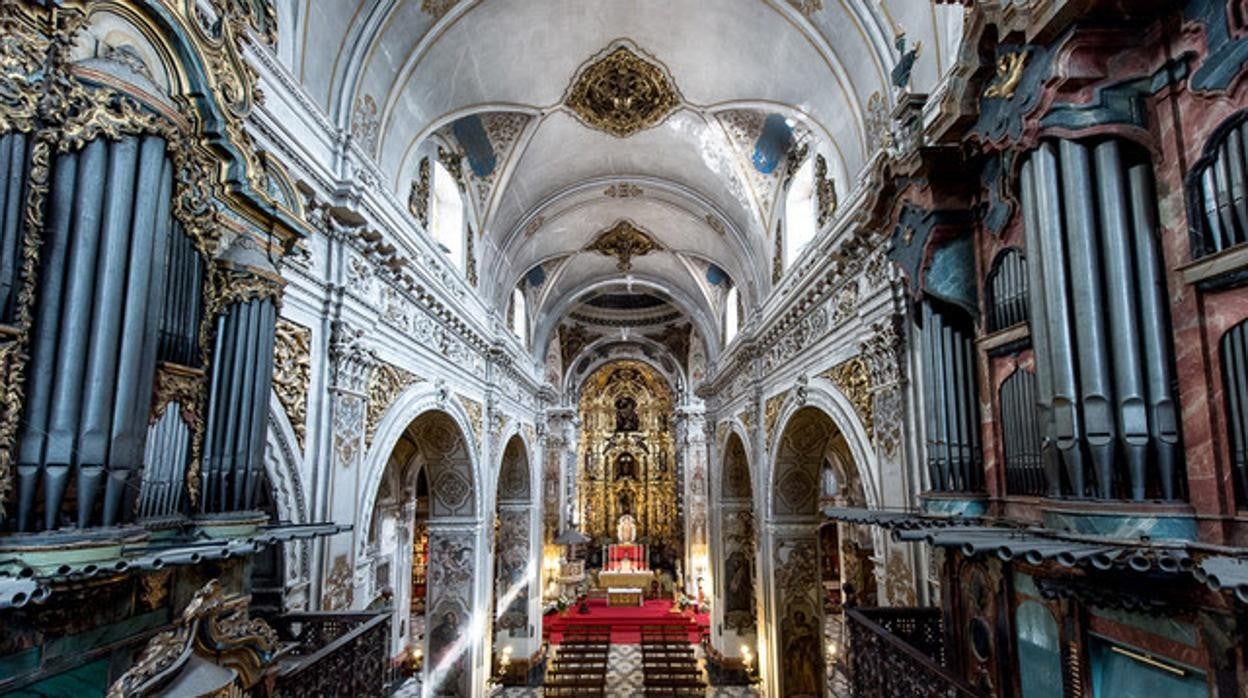
[[[938,608],[847,608],[845,619],[854,696],[978,696],[946,668]]]

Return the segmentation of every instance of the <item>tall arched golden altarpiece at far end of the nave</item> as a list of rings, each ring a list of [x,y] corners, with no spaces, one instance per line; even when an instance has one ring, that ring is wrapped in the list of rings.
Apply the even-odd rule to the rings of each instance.
[[[622,517],[631,516],[636,538],[654,549],[678,547],[679,477],[671,431],[671,390],[653,368],[620,361],[585,381],[577,508],[595,543],[614,542]]]

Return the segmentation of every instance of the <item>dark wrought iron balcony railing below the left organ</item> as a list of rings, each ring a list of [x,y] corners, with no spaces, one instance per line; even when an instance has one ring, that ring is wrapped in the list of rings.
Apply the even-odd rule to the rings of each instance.
[[[270,621],[283,646],[272,696],[384,696],[394,679],[389,611],[287,613]]]

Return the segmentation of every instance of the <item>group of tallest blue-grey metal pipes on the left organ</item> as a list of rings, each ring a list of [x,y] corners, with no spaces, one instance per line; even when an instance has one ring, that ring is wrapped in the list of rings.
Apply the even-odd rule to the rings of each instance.
[[[173,169],[158,136],[96,140],[52,164],[19,441],[17,527],[111,526],[142,465]],[[101,492],[102,489],[102,492]],[[99,513],[99,518],[96,512]]]

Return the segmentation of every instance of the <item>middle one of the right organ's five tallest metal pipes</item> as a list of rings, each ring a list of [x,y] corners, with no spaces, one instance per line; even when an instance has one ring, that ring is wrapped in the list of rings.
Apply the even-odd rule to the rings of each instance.
[[[1097,251],[1092,172],[1087,147],[1062,141],[1062,204],[1066,211],[1066,247],[1078,345],[1080,393],[1083,435],[1092,456],[1097,492],[1113,493],[1113,387],[1104,336],[1104,295],[1101,290],[1101,257]],[[1098,175],[1101,172],[1098,171]],[[1109,296],[1118,293],[1109,288]],[[1114,302],[1111,298],[1111,302]],[[1116,345],[1117,346],[1117,345]]]

